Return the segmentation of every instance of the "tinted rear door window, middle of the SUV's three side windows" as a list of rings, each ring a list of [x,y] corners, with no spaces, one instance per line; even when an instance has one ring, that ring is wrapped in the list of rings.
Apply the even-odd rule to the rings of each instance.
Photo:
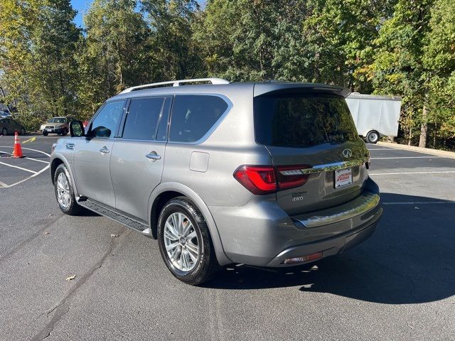
[[[124,139],[154,140],[164,98],[132,99],[123,130]]]

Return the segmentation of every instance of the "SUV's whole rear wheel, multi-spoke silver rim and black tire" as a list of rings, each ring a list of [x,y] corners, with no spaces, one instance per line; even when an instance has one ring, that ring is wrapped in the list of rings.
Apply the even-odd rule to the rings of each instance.
[[[169,271],[185,283],[197,286],[218,269],[204,217],[186,197],[164,205],[158,218],[158,242]]]

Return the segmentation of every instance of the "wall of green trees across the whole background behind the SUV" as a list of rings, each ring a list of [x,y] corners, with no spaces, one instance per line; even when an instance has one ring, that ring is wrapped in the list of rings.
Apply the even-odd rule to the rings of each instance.
[[[0,0],[0,101],[28,129],[189,77],[326,82],[402,97],[400,139],[455,148],[453,0]]]

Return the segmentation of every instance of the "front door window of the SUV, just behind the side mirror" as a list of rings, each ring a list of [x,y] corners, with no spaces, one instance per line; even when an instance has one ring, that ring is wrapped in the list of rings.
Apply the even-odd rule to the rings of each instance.
[[[91,134],[97,137],[114,136],[117,123],[122,117],[124,102],[107,103],[93,120]]]

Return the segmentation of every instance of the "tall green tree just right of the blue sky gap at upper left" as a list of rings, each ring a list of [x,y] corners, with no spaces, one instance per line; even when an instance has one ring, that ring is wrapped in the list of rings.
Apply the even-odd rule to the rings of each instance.
[[[77,58],[85,75],[81,98],[89,106],[148,79],[149,28],[136,6],[135,0],[95,0],[84,16]]]

